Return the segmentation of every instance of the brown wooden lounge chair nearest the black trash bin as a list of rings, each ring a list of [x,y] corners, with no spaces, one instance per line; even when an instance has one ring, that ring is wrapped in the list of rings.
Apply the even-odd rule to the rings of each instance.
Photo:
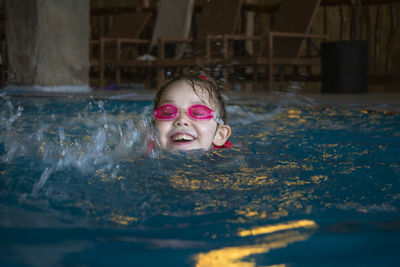
[[[311,34],[311,28],[321,0],[282,0],[275,22],[268,37],[225,35],[225,66],[253,66],[254,81],[257,81],[257,67],[268,66],[268,88],[274,87],[274,70],[280,66],[320,65],[320,57],[304,56],[306,40],[324,39],[327,35]],[[258,47],[253,56],[234,57],[230,51],[232,42],[253,41]],[[265,50],[260,50],[260,42],[267,41]],[[267,53],[265,53],[267,52]]]

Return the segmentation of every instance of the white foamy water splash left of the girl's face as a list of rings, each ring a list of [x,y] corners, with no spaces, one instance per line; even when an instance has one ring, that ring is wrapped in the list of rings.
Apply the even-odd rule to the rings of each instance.
[[[108,109],[103,100],[66,100],[64,104],[64,111],[58,111],[40,99],[29,102],[4,96],[0,100],[0,160],[38,163],[35,170],[41,170],[41,175],[33,195],[53,173],[69,168],[83,174],[105,169],[116,178],[119,162],[143,156],[146,144],[155,139],[149,108],[143,112],[127,111],[129,106]],[[68,105],[71,110],[65,114]]]

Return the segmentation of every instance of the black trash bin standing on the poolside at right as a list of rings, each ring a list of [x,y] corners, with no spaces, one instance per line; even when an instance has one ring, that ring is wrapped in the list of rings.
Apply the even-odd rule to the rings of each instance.
[[[368,49],[365,41],[321,44],[322,93],[368,92]]]

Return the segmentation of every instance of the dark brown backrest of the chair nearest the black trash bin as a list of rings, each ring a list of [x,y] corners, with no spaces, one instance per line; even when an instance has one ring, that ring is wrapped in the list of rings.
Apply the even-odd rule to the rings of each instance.
[[[321,0],[282,0],[272,30],[275,32],[310,33]],[[275,56],[299,57],[305,40],[277,38]]]

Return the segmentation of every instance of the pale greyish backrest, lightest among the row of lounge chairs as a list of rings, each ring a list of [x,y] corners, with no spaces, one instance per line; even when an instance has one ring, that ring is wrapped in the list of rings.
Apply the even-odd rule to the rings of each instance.
[[[177,39],[189,37],[194,2],[194,0],[160,0],[158,2],[157,19],[151,39],[150,51],[157,45],[161,37]],[[177,47],[176,58],[183,54],[183,48],[182,45]]]

